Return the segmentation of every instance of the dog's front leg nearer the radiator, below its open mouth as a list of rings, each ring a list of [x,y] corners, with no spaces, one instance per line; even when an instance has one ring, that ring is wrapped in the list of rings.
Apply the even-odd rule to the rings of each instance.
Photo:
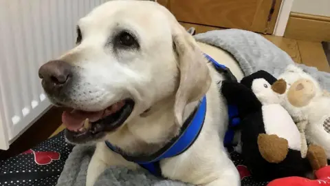
[[[136,169],[137,164],[126,161],[120,154],[117,154],[100,142],[96,145],[96,150],[87,169],[86,186],[93,186],[98,176],[110,166],[124,166],[129,169]]]

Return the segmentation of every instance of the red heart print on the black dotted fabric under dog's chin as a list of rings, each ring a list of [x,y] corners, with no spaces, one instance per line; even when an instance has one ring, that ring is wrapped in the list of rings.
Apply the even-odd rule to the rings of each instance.
[[[34,154],[34,162],[38,165],[47,165],[52,161],[59,160],[61,155],[58,152],[34,152],[32,149],[28,149],[22,154]]]

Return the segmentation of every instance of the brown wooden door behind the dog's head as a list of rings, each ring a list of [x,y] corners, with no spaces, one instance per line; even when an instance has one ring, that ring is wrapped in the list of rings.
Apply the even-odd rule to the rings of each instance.
[[[272,33],[282,0],[158,0],[178,21]]]

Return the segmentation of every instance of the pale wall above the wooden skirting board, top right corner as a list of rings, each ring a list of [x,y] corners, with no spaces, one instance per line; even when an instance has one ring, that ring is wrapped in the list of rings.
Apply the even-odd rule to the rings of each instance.
[[[330,0],[294,0],[292,12],[330,17]]]

